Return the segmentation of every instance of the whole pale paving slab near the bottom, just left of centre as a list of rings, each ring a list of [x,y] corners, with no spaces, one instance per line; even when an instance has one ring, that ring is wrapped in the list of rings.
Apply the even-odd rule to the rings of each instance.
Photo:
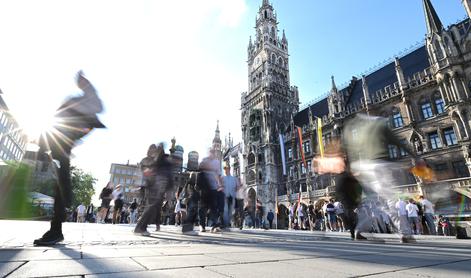
[[[136,257],[133,259],[150,270],[184,267],[207,267],[232,263],[229,260],[212,258],[206,255]]]

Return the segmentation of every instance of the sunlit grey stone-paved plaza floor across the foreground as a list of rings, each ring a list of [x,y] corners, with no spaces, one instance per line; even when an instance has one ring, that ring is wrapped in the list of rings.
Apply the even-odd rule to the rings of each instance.
[[[150,237],[130,225],[65,223],[65,241],[34,247],[47,222],[0,220],[0,277],[470,277],[471,241],[231,230]],[[152,226],[151,226],[152,228]],[[152,230],[152,229],[149,229]],[[371,237],[372,235],[370,235]]]

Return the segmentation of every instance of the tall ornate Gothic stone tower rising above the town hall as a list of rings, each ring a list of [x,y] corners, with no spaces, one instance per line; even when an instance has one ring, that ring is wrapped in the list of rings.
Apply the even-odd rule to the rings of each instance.
[[[265,212],[275,207],[281,186],[281,154],[278,134],[290,126],[298,112],[297,87],[290,86],[288,40],[278,35],[273,6],[263,0],[256,18],[255,40],[249,40],[248,92],[242,93],[242,136],[249,199],[261,200]]]

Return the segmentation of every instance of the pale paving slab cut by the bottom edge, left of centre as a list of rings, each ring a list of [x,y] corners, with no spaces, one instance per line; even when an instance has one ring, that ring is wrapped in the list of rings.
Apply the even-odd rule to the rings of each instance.
[[[86,278],[222,278],[227,277],[217,274],[213,271],[197,267],[197,268],[184,268],[184,269],[168,269],[168,270],[153,270],[146,272],[126,272],[126,273],[113,273],[113,274],[100,274],[100,275],[85,275]]]

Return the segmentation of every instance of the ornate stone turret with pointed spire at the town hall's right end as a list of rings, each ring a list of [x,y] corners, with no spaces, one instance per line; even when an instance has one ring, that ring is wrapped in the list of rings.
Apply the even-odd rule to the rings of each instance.
[[[470,1],[462,1],[467,14],[470,11]],[[426,47],[432,73],[437,81],[440,97],[444,100],[445,109],[455,126],[455,134],[462,145],[466,165],[471,171],[471,132],[470,132],[470,103],[471,81],[468,66],[471,59],[471,34],[469,27],[463,24],[453,26],[448,30],[438,17],[430,0],[423,0],[425,20],[427,24]],[[468,28],[466,32],[461,32]],[[441,131],[442,127],[439,127]]]

